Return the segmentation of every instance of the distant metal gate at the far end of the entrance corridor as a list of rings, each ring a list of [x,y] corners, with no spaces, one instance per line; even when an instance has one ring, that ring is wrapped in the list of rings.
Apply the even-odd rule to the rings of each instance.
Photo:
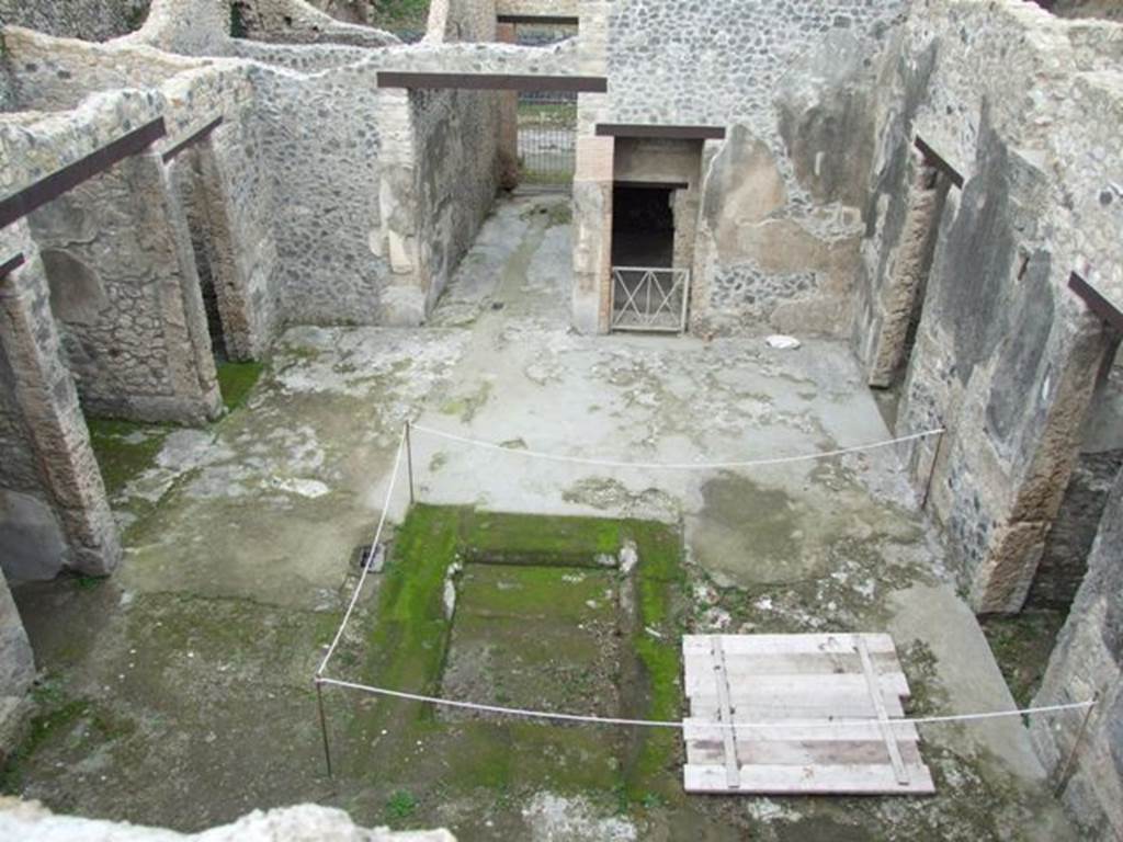
[[[577,94],[519,94],[519,181],[568,189],[577,163]]]

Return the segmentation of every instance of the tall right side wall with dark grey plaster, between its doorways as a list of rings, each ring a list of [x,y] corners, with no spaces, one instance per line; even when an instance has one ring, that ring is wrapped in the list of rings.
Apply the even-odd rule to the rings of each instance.
[[[1026,597],[1113,341],[1067,281],[1080,267],[1111,292],[1123,257],[1119,205],[1097,199],[1123,162],[1087,117],[1093,101],[1104,119],[1123,108],[1123,80],[1102,70],[1114,29],[1022,2],[928,0],[879,71],[855,344],[868,360],[920,135],[966,183],[939,221],[896,432],[948,430],[930,509],[980,612]],[[937,440],[907,450],[923,486]]]

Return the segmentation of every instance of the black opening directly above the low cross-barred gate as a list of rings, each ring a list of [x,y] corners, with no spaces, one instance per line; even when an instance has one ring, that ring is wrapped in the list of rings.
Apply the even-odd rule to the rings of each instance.
[[[675,260],[672,191],[622,186],[612,191],[612,265],[670,268]]]

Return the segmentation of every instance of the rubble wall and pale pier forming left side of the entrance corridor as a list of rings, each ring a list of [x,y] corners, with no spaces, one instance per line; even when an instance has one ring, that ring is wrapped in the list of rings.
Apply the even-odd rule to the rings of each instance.
[[[198,17],[217,26],[218,17],[207,17],[212,6],[199,6]],[[460,37],[493,36],[494,16],[481,16],[477,4],[446,10],[464,21]],[[491,205],[497,98],[407,95],[378,89],[380,70],[526,72],[533,53],[536,68],[564,72],[572,56],[517,47],[484,55],[474,43],[444,43],[444,34],[376,51],[259,44],[201,34],[183,16],[158,2],[158,26],[141,36],[252,60],[241,65],[254,89],[247,134],[272,196],[280,323],[418,323]],[[420,155],[432,157],[422,166]]]

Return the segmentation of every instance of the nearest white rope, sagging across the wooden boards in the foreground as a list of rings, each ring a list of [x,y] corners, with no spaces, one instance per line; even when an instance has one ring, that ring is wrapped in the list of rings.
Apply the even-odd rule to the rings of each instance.
[[[842,725],[868,725],[871,727],[879,727],[880,722],[876,719],[868,720],[856,720],[856,719],[838,719],[838,720],[811,720],[811,721],[777,721],[777,722],[681,722],[674,720],[623,720],[615,719],[612,716],[586,716],[575,713],[555,713],[551,711],[532,711],[523,707],[504,707],[502,705],[485,705],[477,704],[475,702],[462,702],[454,698],[441,698],[439,696],[426,696],[418,693],[403,693],[401,690],[392,690],[385,687],[372,687],[366,684],[356,684],[355,681],[340,681],[336,678],[320,678],[321,684],[334,685],[336,687],[346,687],[347,689],[360,690],[363,693],[369,693],[375,696],[390,696],[392,698],[401,698],[408,702],[424,702],[427,704],[438,705],[441,707],[457,707],[467,711],[480,711],[482,713],[496,713],[503,716],[521,716],[523,719],[535,719],[535,720],[554,720],[558,722],[582,722],[592,725],[622,725],[627,727],[670,727],[677,730],[684,730],[686,727],[712,727],[715,730],[732,729],[737,731],[746,730],[751,731],[755,729],[784,729],[784,727],[840,727]],[[1039,707],[1023,707],[1015,711],[986,711],[983,713],[959,713],[959,714],[948,714],[943,716],[914,716],[914,717],[901,717],[889,720],[889,724],[894,725],[897,723],[906,723],[913,725],[931,725],[943,722],[969,722],[974,720],[996,720],[1010,716],[1023,716],[1033,715],[1039,713],[1054,713],[1059,711],[1076,711],[1085,710],[1092,707],[1096,704],[1096,699],[1089,699],[1087,702],[1072,702],[1063,705],[1042,705]],[[785,707],[784,710],[788,710]]]

